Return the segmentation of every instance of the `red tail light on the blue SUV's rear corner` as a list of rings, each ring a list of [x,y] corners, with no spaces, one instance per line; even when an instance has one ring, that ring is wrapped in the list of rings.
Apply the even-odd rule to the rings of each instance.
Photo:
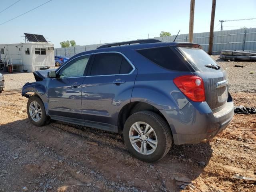
[[[173,82],[190,100],[205,101],[204,81],[199,76],[180,76],[174,78]]]

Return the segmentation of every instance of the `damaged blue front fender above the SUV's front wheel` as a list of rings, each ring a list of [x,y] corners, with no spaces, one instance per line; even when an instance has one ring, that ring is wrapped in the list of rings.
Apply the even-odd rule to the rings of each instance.
[[[22,96],[29,98],[31,95],[27,94],[28,92],[35,93],[44,103],[46,114],[48,114],[48,98],[46,95],[46,88],[43,84],[41,84],[41,82],[43,81],[24,84],[22,87]]]

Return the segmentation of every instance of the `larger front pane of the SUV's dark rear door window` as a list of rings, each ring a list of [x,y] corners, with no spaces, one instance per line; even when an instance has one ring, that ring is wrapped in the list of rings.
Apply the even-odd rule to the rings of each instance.
[[[123,56],[118,53],[96,54],[91,75],[119,74]]]

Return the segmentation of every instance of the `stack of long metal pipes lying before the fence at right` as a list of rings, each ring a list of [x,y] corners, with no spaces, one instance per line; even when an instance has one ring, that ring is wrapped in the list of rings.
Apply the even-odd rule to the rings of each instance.
[[[231,60],[256,60],[256,53],[221,50],[220,58]]]

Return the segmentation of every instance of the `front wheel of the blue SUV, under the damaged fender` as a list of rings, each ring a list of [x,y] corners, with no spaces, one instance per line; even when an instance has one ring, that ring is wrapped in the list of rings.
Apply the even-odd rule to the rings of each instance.
[[[37,114],[35,115],[34,118],[32,118],[33,115],[30,114],[30,113],[34,114],[33,111],[36,112],[35,110],[32,109],[33,107],[34,107],[34,109],[36,109],[35,103],[37,104],[37,108],[38,108],[37,112],[38,112],[38,116],[40,117],[40,119],[38,118]],[[30,108],[30,104],[32,105],[32,108]],[[41,112],[41,114],[40,114],[40,112]],[[44,104],[43,104],[42,100],[36,95],[31,96],[28,99],[27,114],[28,114],[28,118],[31,121],[31,123],[36,126],[43,126],[46,123],[48,123],[48,118],[45,113]],[[36,121],[35,119],[36,120],[39,119],[39,120]]]

